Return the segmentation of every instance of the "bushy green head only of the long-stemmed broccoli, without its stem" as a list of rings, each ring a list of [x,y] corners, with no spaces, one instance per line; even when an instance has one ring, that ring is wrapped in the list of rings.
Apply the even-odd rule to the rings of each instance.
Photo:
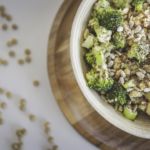
[[[108,91],[111,89],[114,81],[108,76],[107,70],[101,69],[100,72],[91,70],[86,74],[86,80],[89,88],[98,92]]]

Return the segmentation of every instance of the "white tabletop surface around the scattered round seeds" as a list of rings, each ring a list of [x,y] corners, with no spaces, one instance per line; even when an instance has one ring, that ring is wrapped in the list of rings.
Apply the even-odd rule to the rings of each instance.
[[[12,91],[15,97],[8,100],[7,109],[3,111],[4,125],[0,127],[0,150],[10,150],[15,142],[15,129],[27,128],[23,150],[46,150],[48,143],[42,131],[42,120],[49,120],[52,135],[60,150],[97,150],[84,140],[66,121],[60,112],[52,95],[47,75],[47,44],[50,27],[62,0],[0,0],[14,16],[14,22],[19,30],[12,32],[0,31],[0,57],[8,59],[8,67],[0,66],[0,86]],[[12,49],[17,57],[8,57],[7,39],[16,37],[19,44]],[[19,66],[17,59],[23,56],[25,48],[32,49],[33,62],[30,65]],[[41,85],[35,88],[34,79],[40,80]],[[39,116],[38,121],[31,123],[26,113],[18,110],[18,99],[25,98],[27,112]]]

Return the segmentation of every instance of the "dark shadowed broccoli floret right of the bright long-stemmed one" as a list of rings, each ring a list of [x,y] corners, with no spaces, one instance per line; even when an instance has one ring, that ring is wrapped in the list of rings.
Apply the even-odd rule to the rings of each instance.
[[[120,84],[115,83],[107,94],[109,99],[114,99],[120,105],[127,103],[127,92]]]

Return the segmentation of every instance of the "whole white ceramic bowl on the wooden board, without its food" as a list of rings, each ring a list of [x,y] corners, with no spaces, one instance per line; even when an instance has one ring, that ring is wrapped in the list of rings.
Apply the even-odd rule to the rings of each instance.
[[[132,122],[125,119],[119,112],[116,112],[112,106],[104,102],[102,98],[93,90],[87,87],[85,81],[86,66],[83,60],[81,38],[83,30],[87,24],[91,8],[96,0],[83,0],[74,19],[71,32],[70,56],[73,71],[78,85],[88,102],[94,109],[104,117],[108,122],[132,135],[150,139],[150,118],[140,116]]]

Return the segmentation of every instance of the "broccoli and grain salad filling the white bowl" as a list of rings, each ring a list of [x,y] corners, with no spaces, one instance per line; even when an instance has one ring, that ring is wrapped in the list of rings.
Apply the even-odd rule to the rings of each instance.
[[[89,88],[129,120],[150,115],[150,1],[98,0],[83,34]]]

